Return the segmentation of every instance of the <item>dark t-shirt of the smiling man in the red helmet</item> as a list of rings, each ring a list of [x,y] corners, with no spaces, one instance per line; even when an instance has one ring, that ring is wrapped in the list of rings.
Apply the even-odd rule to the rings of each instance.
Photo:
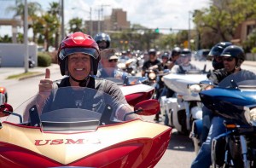
[[[69,77],[63,78],[61,83],[57,85],[58,88],[71,86]],[[84,106],[86,106],[86,109],[88,109],[89,104],[92,111],[98,112],[102,111],[106,104],[114,105],[113,108],[118,108],[121,104],[127,104],[118,85],[111,81],[90,77],[87,88],[94,90],[73,90],[72,88],[56,90],[46,101],[43,113],[61,108],[85,108]],[[63,103],[63,99],[65,99],[65,103]]]

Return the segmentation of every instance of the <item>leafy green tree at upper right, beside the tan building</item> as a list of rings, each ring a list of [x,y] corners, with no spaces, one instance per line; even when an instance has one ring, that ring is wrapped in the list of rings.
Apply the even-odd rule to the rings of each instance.
[[[202,42],[208,40],[207,45],[211,45],[219,41],[230,41],[242,21],[255,17],[255,8],[255,0],[222,0],[212,3],[208,9],[195,10],[194,22],[201,33]],[[209,34],[211,36],[207,37]]]

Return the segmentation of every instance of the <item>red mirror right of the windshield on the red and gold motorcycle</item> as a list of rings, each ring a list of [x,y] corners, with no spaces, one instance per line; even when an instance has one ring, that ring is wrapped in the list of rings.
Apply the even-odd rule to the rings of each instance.
[[[139,115],[154,115],[160,112],[160,104],[154,99],[141,101],[134,106],[134,110]]]

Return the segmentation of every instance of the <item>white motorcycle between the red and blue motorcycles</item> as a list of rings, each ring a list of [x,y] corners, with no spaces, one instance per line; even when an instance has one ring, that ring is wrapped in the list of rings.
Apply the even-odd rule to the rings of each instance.
[[[178,132],[189,134],[195,119],[202,119],[201,99],[197,85],[207,80],[207,73],[201,71],[186,74],[168,74],[163,77],[166,86],[175,92],[171,98],[160,98],[160,112],[166,116],[165,125],[175,127]]]

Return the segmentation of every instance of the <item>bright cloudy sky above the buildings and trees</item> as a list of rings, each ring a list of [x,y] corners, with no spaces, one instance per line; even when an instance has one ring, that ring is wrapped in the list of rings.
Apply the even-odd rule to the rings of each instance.
[[[41,3],[43,9],[48,9],[50,2],[59,2],[59,0],[37,2]],[[104,5],[103,15],[110,15],[112,9],[121,8],[127,12],[127,20],[131,24],[140,24],[148,28],[188,29],[189,11],[208,8],[209,3],[210,0],[64,0],[65,25],[74,17],[90,20],[90,8],[92,19],[98,20],[98,9]],[[0,18],[4,17],[3,14],[6,13],[0,12]],[[193,27],[192,21],[190,24]],[[10,30],[0,26],[0,34],[5,32],[9,33]],[[160,30],[160,32],[170,31]]]

